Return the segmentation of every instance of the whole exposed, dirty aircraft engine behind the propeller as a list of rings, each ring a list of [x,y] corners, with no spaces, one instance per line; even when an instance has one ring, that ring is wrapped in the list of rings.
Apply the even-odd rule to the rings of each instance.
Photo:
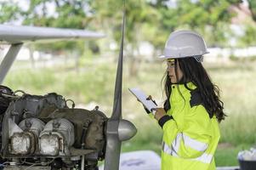
[[[105,156],[108,120],[98,106],[93,111],[69,108],[55,93],[14,97],[0,131],[4,169],[97,169]]]

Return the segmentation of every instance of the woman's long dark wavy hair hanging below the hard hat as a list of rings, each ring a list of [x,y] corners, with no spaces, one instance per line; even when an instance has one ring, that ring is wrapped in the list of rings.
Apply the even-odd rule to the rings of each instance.
[[[212,118],[215,115],[219,122],[225,119],[225,113],[223,112],[224,103],[219,99],[219,88],[217,85],[211,82],[207,71],[203,68],[202,63],[197,62],[193,57],[175,59],[175,74],[177,77],[177,64],[179,64],[180,70],[183,72],[183,77],[178,83],[192,82],[198,89],[201,98],[202,105],[208,111],[209,116]],[[169,98],[172,93],[171,79],[168,77],[168,71],[164,77],[164,92],[167,99],[164,102],[164,109],[168,111],[171,108]],[[189,89],[189,88],[188,88]],[[189,89],[191,90],[191,89]]]

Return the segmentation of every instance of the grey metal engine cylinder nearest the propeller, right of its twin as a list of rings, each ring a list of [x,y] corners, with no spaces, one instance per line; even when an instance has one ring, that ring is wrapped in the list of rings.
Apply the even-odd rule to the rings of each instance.
[[[74,126],[64,118],[48,122],[39,136],[39,150],[46,156],[69,155],[68,147],[74,144]]]

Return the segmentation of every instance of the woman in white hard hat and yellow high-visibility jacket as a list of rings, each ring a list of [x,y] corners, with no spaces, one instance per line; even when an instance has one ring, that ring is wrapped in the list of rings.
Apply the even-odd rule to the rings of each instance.
[[[174,31],[168,37],[163,59],[166,101],[155,118],[163,131],[162,170],[213,170],[224,120],[219,88],[202,66],[207,48],[193,31]]]

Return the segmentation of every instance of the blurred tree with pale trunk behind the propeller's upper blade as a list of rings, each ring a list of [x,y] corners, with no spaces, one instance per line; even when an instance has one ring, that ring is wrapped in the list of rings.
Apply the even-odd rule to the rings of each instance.
[[[100,20],[108,34],[120,42],[122,28],[122,1],[116,0],[95,0],[91,2],[95,11],[95,19]],[[125,49],[129,60],[129,75],[136,76],[139,69],[139,42],[150,41],[155,33],[159,20],[159,14],[155,8],[144,0],[129,0],[125,4]],[[151,28],[150,31],[147,28]],[[151,39],[149,38],[151,37]],[[119,43],[118,43],[119,44]]]

